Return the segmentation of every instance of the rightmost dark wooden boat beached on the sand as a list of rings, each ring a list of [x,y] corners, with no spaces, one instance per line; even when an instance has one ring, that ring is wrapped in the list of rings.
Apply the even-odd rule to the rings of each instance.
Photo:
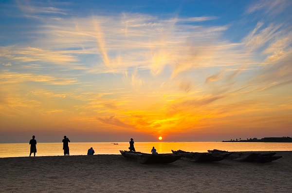
[[[209,153],[212,154],[224,154],[227,151],[221,151],[221,150],[208,150]],[[231,156],[229,156],[227,159],[234,160],[234,161],[247,161],[247,162],[271,162],[274,160],[278,160],[282,158],[282,156],[274,156],[276,153],[255,153],[255,152],[233,152]]]

